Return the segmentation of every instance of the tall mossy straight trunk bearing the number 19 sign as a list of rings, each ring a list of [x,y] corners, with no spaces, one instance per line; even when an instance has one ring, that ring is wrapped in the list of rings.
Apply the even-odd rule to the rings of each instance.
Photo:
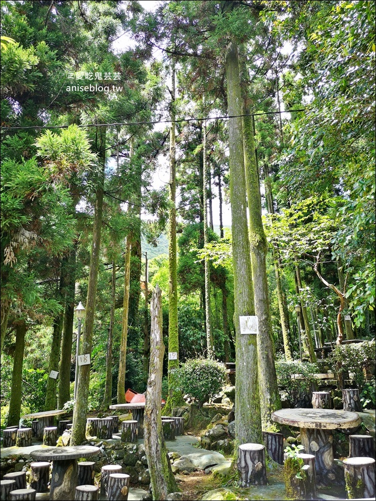
[[[170,183],[168,228],[168,352],[176,353],[176,359],[168,359],[168,398],[166,411],[183,402],[176,390],[174,369],[179,367],[179,333],[177,325],[177,256],[176,256],[176,141],[175,141],[175,62],[171,60],[171,128],[170,128]]]

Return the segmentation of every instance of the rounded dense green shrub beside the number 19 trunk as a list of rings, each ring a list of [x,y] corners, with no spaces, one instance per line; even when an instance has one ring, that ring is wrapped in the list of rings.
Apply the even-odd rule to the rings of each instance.
[[[199,407],[209,402],[225,383],[225,367],[211,359],[187,360],[176,372],[181,391],[195,400]]]

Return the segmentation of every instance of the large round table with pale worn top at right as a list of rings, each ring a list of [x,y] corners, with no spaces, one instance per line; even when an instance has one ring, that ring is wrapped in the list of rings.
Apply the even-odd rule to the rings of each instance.
[[[356,412],[331,409],[280,409],[272,413],[273,421],[300,428],[300,441],[306,454],[314,454],[316,475],[322,483],[338,480],[333,458],[333,435],[330,430],[356,428]]]

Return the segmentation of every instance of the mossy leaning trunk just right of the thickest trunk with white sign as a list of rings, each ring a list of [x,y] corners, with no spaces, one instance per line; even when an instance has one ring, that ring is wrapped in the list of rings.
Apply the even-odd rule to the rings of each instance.
[[[245,113],[249,109],[245,106]],[[255,313],[259,321],[257,336],[261,419],[264,431],[274,428],[271,413],[281,408],[277,374],[274,364],[274,342],[269,308],[266,255],[268,244],[261,219],[259,175],[256,163],[255,138],[251,116],[243,117],[244,159],[247,183],[249,233]]]

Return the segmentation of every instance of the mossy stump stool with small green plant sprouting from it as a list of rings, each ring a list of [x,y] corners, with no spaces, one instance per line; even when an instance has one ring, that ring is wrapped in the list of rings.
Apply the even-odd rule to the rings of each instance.
[[[297,456],[304,463],[300,468],[301,478],[296,477],[298,471],[291,465],[292,458],[287,454],[283,456],[286,496],[289,499],[317,499],[315,456],[302,452]]]

